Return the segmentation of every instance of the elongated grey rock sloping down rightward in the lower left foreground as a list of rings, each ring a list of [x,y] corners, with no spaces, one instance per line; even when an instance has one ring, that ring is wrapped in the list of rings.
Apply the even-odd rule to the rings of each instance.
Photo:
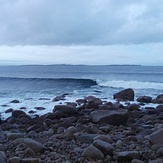
[[[46,147],[33,139],[25,138],[24,139],[25,147],[33,149],[36,153],[42,153],[46,150]]]

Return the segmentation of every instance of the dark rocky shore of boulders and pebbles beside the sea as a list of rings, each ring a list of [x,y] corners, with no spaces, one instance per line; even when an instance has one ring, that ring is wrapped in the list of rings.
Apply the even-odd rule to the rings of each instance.
[[[163,163],[163,95],[131,103],[134,91],[126,89],[113,98],[88,96],[34,117],[8,110],[0,163]],[[157,106],[140,109],[146,103]]]

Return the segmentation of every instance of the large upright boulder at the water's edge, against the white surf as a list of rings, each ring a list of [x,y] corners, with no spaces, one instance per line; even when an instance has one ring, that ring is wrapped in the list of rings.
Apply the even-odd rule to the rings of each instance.
[[[114,99],[120,99],[120,100],[134,100],[134,91],[131,88],[124,89],[116,94],[113,95]]]

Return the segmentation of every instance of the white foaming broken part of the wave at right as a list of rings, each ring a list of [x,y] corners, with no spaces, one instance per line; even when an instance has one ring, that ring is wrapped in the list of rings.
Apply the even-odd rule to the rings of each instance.
[[[125,80],[98,80],[99,86],[114,88],[133,88],[133,89],[158,89],[163,90],[163,83],[141,82],[141,81],[125,81]]]

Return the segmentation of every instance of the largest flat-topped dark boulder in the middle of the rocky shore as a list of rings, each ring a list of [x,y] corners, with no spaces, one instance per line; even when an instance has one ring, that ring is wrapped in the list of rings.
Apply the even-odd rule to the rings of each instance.
[[[128,120],[127,110],[98,110],[91,113],[92,121],[95,123],[107,123],[111,125],[125,125]]]

